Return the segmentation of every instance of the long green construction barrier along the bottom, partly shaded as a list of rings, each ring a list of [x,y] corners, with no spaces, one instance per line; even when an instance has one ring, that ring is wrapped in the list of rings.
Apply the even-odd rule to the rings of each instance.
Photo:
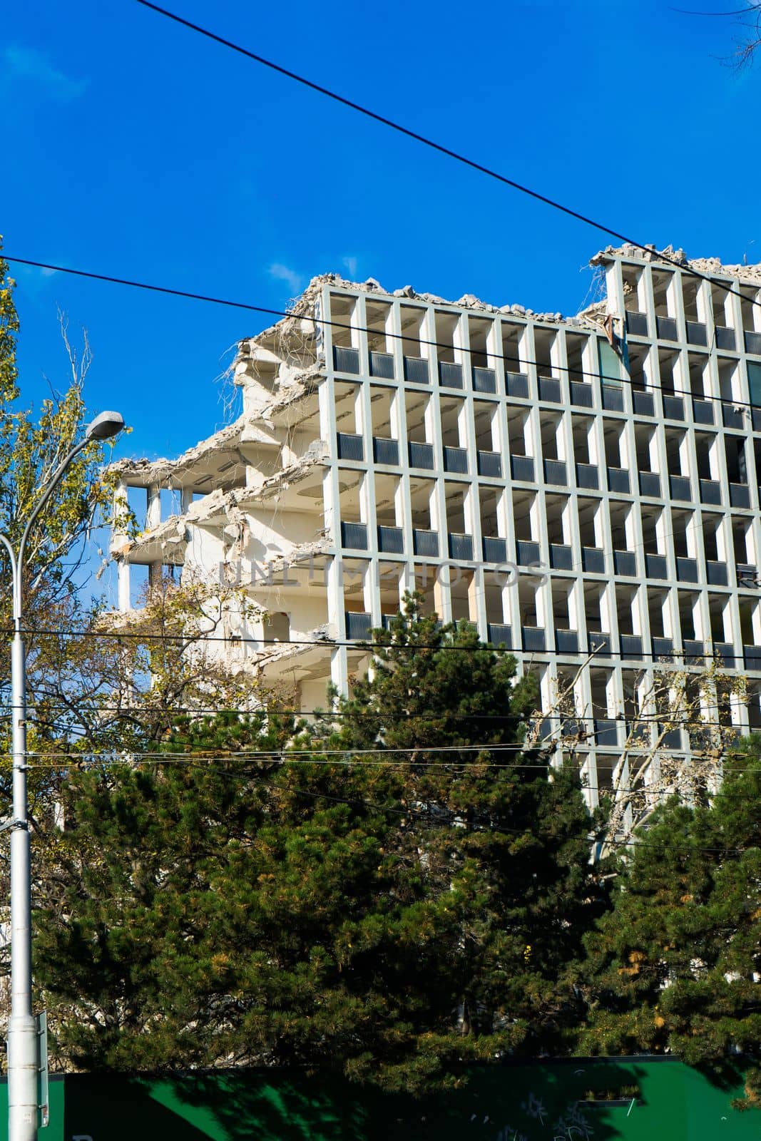
[[[75,1074],[50,1083],[40,1141],[758,1141],[761,1112],[672,1059],[564,1059],[476,1068],[422,1100],[299,1071],[161,1078]],[[0,1141],[7,1139],[6,1086]]]

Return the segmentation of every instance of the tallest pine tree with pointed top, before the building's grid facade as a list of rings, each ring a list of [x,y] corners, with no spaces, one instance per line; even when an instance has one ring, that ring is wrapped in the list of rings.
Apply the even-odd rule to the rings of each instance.
[[[460,1030],[483,1039],[484,1054],[564,1051],[581,1012],[569,966],[604,907],[577,770],[518,750],[534,679],[516,683],[515,659],[484,647],[473,626],[439,629],[410,598],[375,638],[374,673],[342,705],[338,739],[382,742],[416,808],[399,851],[424,853],[429,900],[456,900],[445,955]],[[438,1018],[448,1022],[445,1004]]]

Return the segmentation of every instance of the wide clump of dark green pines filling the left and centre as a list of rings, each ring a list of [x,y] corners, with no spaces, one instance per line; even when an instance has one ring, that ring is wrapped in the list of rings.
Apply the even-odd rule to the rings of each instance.
[[[377,636],[316,728],[178,719],[71,774],[35,936],[60,1063],[420,1090],[568,1049],[601,911],[578,778],[520,751],[531,680],[471,629],[411,599]]]

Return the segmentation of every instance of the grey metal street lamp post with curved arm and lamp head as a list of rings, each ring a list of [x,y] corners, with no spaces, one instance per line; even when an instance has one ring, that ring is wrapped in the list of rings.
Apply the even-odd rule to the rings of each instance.
[[[18,551],[0,534],[13,576],[14,639],[10,650],[13,718],[13,810],[10,830],[10,1017],[8,1019],[8,1141],[37,1141],[38,1028],[32,1014],[32,868],[26,801],[26,652],[24,646],[24,551],[30,532],[66,468],[91,440],[110,439],[124,427],[119,412],[102,412],[84,438],[54,471],[32,511]]]

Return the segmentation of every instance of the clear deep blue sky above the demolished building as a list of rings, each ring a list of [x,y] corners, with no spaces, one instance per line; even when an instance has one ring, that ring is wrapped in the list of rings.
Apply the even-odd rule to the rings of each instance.
[[[655,0],[165,2],[635,238],[761,260],[761,73],[720,63],[729,22]],[[607,244],[132,0],[10,6],[0,95],[9,254],[275,308],[335,269],[576,311]],[[14,273],[26,398],[65,383],[59,305],[89,330],[91,407],[124,413],[135,454],[219,427],[230,347],[268,323]]]

